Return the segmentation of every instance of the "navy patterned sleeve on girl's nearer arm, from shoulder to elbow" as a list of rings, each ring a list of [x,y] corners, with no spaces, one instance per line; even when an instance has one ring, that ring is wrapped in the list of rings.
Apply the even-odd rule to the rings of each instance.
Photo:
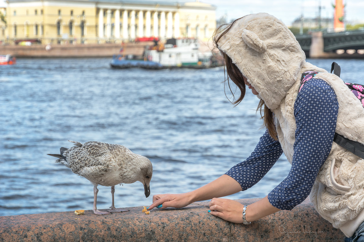
[[[318,170],[327,159],[336,129],[339,103],[323,80],[311,79],[297,95],[292,167],[288,176],[268,194],[270,204],[291,210],[308,197]]]

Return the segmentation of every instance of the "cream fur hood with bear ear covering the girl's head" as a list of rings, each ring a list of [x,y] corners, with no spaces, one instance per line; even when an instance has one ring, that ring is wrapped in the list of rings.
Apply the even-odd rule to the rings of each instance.
[[[268,13],[237,20],[217,45],[270,109],[277,108],[293,83],[300,79],[306,58],[287,26]]]

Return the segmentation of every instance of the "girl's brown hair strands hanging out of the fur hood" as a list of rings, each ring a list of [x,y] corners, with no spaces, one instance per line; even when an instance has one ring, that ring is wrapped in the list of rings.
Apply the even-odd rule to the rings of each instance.
[[[222,36],[224,36],[224,34],[229,32],[229,30],[232,28],[232,26],[235,24],[235,22],[237,20],[239,20],[239,19],[236,19],[229,24],[220,25],[214,31],[213,42],[217,48],[219,48],[218,41],[220,40],[220,38]],[[223,30],[221,30],[222,28],[223,28]],[[245,96],[246,89],[245,89],[244,80],[246,80],[246,77],[244,77],[244,75],[241,73],[241,71],[238,69],[238,67],[233,63],[232,59],[226,53],[221,52],[221,55],[222,55],[223,62],[224,62],[224,77],[225,77],[224,90],[225,90],[225,83],[227,83],[227,85],[229,86],[230,92],[233,94],[233,98],[235,99],[234,92],[231,89],[229,79],[231,79],[235,83],[235,85],[238,87],[238,89],[240,90],[240,96],[236,100],[233,100],[233,102],[232,102],[236,106],[243,100],[243,98]],[[227,77],[225,76],[225,72],[227,74]],[[226,93],[225,93],[225,95],[226,95]],[[230,99],[229,99],[229,101],[230,101]],[[276,126],[274,124],[273,112],[265,105],[263,99],[260,99],[260,102],[257,107],[257,112],[258,111],[260,112],[260,116],[263,119],[263,125],[267,128],[269,135],[274,140],[278,140]]]

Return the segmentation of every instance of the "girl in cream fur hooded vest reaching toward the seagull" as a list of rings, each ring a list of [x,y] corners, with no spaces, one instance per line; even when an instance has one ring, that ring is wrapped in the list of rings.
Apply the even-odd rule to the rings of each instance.
[[[218,179],[192,192],[153,196],[148,210],[181,208],[210,201],[209,212],[249,224],[279,210],[291,210],[310,195],[317,212],[347,237],[364,234],[364,160],[333,142],[335,132],[364,143],[364,109],[336,75],[305,62],[290,30],[266,13],[247,15],[218,28],[214,44],[229,78],[260,98],[265,134],[253,153]],[[312,79],[314,74],[318,73]],[[301,75],[309,79],[301,86]],[[285,153],[289,175],[253,204],[217,198],[256,184]],[[364,235],[360,237],[364,241]],[[360,241],[360,240],[359,240]]]

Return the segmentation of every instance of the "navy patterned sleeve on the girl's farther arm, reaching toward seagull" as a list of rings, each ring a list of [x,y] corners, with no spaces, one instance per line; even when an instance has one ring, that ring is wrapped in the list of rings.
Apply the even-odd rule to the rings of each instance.
[[[280,143],[265,131],[248,159],[235,165],[225,174],[239,182],[244,191],[260,181],[282,153]]]

